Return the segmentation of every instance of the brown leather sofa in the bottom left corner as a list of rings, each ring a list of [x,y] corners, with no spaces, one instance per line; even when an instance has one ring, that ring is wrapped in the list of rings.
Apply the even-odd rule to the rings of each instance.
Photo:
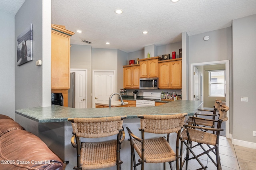
[[[62,170],[63,162],[36,135],[0,115],[1,170]]]

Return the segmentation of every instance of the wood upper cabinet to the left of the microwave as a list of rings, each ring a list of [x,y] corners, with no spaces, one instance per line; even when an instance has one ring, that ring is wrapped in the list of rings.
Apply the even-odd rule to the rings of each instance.
[[[124,65],[124,89],[140,88],[140,66]]]

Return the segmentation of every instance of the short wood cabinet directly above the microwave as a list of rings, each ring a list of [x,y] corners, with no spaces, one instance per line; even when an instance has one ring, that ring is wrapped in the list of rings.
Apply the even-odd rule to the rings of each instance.
[[[161,57],[139,59],[140,78],[158,77],[158,60],[161,59]]]

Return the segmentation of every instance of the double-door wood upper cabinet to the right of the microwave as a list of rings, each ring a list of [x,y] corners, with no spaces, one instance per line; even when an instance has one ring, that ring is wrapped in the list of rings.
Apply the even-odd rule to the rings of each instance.
[[[182,60],[171,59],[158,63],[158,88],[182,89]]]

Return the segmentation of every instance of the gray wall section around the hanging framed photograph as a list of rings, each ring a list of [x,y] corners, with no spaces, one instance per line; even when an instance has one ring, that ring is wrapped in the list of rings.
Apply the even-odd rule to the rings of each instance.
[[[36,60],[42,59],[42,1],[26,0],[18,10],[15,15],[15,38],[31,23],[33,61],[17,66],[15,44],[15,109],[42,106],[42,67],[36,66]]]

